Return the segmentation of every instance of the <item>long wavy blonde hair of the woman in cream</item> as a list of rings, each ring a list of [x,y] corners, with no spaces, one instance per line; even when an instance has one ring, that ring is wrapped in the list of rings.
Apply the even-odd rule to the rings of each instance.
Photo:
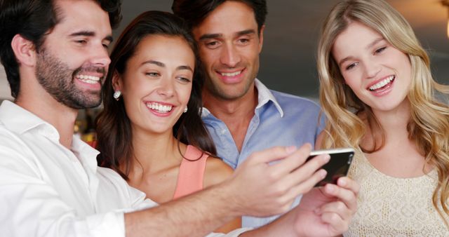
[[[436,83],[429,69],[429,57],[417,40],[412,27],[394,8],[383,0],[341,1],[330,11],[321,29],[317,67],[320,80],[320,102],[328,121],[322,147],[356,147],[366,135],[366,123],[358,114],[366,114],[368,126],[382,133],[381,144],[368,151],[377,151],[384,143],[384,131],[368,105],[344,84],[340,69],[331,55],[335,38],[351,22],[360,22],[382,34],[391,46],[406,53],[412,66],[412,80],[407,99],[410,102],[408,138],[415,142],[425,161],[438,170],[438,184],[432,201],[446,226],[449,215],[449,107],[438,102],[436,91],[447,95],[448,86]],[[377,140],[377,139],[375,139]],[[363,149],[362,149],[363,150]],[[366,149],[363,151],[367,151]],[[441,205],[441,208],[438,208]],[[445,215],[444,215],[445,214]]]

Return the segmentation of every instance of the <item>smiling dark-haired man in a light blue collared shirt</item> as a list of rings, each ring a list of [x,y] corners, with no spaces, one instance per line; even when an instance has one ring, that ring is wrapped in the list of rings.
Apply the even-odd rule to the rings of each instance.
[[[218,156],[236,168],[254,151],[314,144],[322,124],[319,106],[256,79],[266,1],[174,0],[172,9],[199,44],[208,75],[202,116]],[[275,218],[243,217],[242,224],[261,226]]]

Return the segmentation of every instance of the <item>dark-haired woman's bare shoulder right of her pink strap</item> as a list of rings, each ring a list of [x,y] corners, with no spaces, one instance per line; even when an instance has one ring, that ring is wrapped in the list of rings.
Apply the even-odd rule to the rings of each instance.
[[[234,170],[219,158],[208,157],[204,171],[204,187],[210,187],[225,181]]]

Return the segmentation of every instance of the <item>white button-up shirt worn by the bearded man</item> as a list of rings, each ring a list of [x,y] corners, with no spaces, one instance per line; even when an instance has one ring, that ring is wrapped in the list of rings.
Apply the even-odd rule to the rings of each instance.
[[[124,212],[157,205],[98,167],[97,150],[76,137],[69,150],[59,139],[51,124],[1,104],[0,236],[125,236]]]

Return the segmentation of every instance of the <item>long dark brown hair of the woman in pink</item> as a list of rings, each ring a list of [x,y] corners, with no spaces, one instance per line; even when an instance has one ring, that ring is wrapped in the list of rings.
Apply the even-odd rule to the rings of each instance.
[[[217,153],[213,140],[201,120],[203,104],[201,88],[205,72],[199,61],[198,49],[189,27],[184,20],[172,13],[147,11],[130,22],[114,45],[106,81],[102,88],[104,108],[96,121],[98,137],[96,148],[100,151],[97,157],[98,165],[116,170],[125,180],[128,180],[130,162],[134,157],[133,144],[130,142],[133,134],[123,99],[116,101],[113,97],[112,79],[114,74],[125,73],[128,60],[133,57],[140,41],[151,35],[180,37],[189,44],[195,55],[192,92],[187,103],[189,109],[173,126],[173,135],[177,137],[178,142],[192,144],[212,156]]]

